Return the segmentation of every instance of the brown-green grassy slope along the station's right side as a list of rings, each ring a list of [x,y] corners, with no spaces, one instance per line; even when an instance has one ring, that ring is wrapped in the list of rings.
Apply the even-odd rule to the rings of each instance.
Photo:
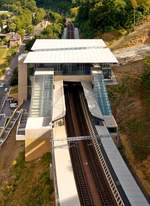
[[[150,195],[150,104],[141,83],[144,69],[143,61],[115,68],[119,84],[109,87],[109,96],[123,155]]]

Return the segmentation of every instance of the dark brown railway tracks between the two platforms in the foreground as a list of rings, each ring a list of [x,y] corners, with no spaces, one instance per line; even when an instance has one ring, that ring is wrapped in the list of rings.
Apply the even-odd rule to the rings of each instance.
[[[80,86],[65,88],[68,136],[89,135],[80,103]],[[115,206],[91,140],[69,142],[76,185],[83,206]]]

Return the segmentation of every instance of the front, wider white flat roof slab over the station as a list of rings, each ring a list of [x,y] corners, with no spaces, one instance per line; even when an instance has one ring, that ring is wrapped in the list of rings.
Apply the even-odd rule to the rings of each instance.
[[[29,52],[24,63],[118,63],[108,48]]]

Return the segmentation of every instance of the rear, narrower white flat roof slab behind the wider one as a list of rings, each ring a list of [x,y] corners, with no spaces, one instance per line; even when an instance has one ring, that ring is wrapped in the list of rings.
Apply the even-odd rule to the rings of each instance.
[[[37,39],[33,51],[106,47],[102,39]]]

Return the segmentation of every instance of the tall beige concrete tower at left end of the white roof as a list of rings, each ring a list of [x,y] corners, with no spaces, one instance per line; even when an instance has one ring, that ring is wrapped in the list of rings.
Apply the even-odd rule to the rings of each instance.
[[[26,55],[18,58],[18,104],[27,100],[27,64],[24,63]]]

